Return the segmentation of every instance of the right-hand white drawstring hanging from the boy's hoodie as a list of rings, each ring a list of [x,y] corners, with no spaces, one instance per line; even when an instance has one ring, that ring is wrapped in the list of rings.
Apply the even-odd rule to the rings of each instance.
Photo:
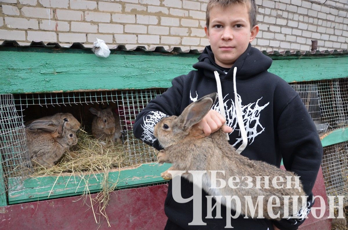
[[[237,149],[237,153],[242,153],[242,151],[246,148],[248,143],[248,136],[246,135],[246,130],[244,126],[243,116],[242,116],[242,108],[240,107],[239,100],[237,97],[237,87],[236,87],[236,73],[237,67],[233,69],[233,89],[235,91],[235,107],[236,107],[236,116],[240,129],[240,134],[242,135],[242,145]]]

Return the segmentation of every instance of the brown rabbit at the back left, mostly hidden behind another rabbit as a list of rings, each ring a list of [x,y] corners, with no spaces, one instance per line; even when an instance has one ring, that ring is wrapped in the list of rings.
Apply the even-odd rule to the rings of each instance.
[[[35,130],[37,127],[42,127],[42,125],[53,125],[58,127],[59,125],[65,123],[65,129],[76,132],[80,129],[80,122],[71,113],[56,113],[52,116],[41,117],[36,120],[31,120],[25,123],[26,128],[30,130]],[[57,131],[54,131],[57,135],[61,135]]]

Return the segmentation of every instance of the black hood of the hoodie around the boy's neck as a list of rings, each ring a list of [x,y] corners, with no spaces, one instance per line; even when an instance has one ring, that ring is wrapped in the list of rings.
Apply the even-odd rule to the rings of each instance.
[[[210,46],[206,46],[203,53],[198,57],[198,62],[193,64],[193,68],[203,71],[203,74],[215,79],[214,71],[217,71],[221,78],[233,79],[233,69],[237,67],[236,78],[245,80],[261,72],[267,71],[272,64],[272,59],[262,54],[262,52],[249,43],[245,52],[240,55],[230,71],[225,74],[221,67],[215,63],[214,54]]]

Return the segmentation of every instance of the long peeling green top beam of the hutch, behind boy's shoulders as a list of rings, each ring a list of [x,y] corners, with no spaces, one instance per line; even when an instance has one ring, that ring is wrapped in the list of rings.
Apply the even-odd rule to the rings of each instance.
[[[198,55],[110,55],[0,51],[0,93],[168,88]],[[287,82],[348,77],[348,57],[274,60]]]

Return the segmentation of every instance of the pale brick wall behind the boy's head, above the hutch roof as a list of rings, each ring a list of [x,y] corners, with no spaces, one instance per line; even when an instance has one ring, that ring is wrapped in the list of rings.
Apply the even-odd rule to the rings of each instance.
[[[82,42],[202,50],[208,0],[1,0],[0,42]],[[347,0],[256,0],[262,50],[347,49]]]

